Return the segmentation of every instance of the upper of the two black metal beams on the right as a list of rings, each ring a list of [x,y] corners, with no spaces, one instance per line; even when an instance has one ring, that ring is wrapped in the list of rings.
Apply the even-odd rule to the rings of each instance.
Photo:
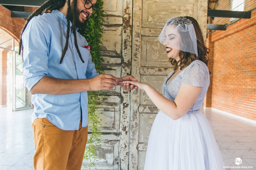
[[[226,11],[208,9],[208,17],[222,17],[222,18],[251,18],[251,11]]]

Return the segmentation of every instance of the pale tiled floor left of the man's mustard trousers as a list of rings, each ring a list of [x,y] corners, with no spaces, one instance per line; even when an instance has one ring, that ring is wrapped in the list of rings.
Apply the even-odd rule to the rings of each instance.
[[[11,108],[0,108],[1,170],[34,170],[32,112],[33,109],[12,112]]]

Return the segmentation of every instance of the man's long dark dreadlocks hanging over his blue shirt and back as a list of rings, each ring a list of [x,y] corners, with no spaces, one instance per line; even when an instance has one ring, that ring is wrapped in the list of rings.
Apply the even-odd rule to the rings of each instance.
[[[76,10],[77,10],[77,0],[74,0],[73,1],[73,6],[74,6],[74,9],[73,9],[73,18],[71,19],[70,18],[70,10],[71,10],[71,6],[70,6],[70,0],[48,0],[46,1],[44,4],[42,4],[35,12],[33,12],[27,19],[27,22],[22,30],[22,33],[21,35],[23,34],[24,30],[26,29],[27,25],[28,25],[28,22],[35,16],[38,16],[38,15],[42,15],[43,11],[45,11],[45,13],[49,13],[51,12],[52,10],[55,10],[55,9],[60,9],[62,8],[65,3],[67,1],[67,4],[68,4],[68,11],[67,11],[67,16],[66,16],[66,19],[67,19],[67,36],[66,36],[66,44],[65,44],[65,47],[63,49],[63,52],[62,52],[62,55],[61,55],[61,58],[60,58],[60,64],[68,50],[68,40],[69,40],[69,29],[70,29],[70,20],[72,20],[72,31],[73,31],[73,34],[74,34],[74,43],[75,43],[75,47],[77,49],[77,53],[81,59],[81,61],[84,63],[84,60],[82,59],[82,56],[81,56],[81,53],[78,49],[78,44],[77,44],[77,35],[76,35]],[[50,10],[50,11],[49,11]],[[49,12],[48,12],[49,11]],[[86,20],[87,21],[87,20]],[[84,28],[82,28],[84,30]],[[21,50],[23,51],[23,44],[22,44],[22,39],[21,39],[21,35],[20,35],[20,40],[19,40],[19,55],[20,55],[20,52]],[[23,57],[23,55],[22,55]]]

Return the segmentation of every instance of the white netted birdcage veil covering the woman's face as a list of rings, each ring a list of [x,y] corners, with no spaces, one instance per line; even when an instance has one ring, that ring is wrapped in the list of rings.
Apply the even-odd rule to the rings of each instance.
[[[168,47],[198,56],[196,32],[192,22],[187,18],[174,17],[169,19],[158,40]]]

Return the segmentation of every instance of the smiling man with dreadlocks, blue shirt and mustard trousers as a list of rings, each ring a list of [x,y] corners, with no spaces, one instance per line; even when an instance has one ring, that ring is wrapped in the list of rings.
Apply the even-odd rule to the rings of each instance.
[[[48,0],[27,20],[20,39],[25,86],[32,94],[35,170],[80,170],[88,131],[88,90],[136,81],[98,74],[78,33],[96,0]],[[45,11],[44,14],[42,12]],[[41,15],[42,14],[42,15]],[[120,84],[124,90],[133,85]]]

